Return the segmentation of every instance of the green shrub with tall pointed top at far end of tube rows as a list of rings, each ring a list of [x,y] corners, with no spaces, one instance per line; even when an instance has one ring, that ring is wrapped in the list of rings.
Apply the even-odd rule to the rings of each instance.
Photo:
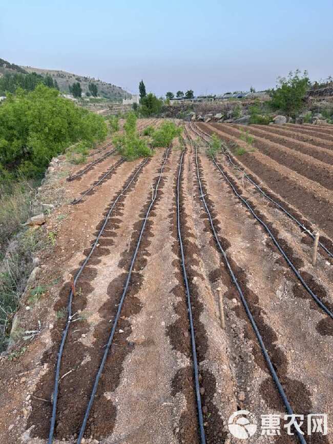
[[[123,134],[116,134],[113,138],[113,144],[119,154],[126,157],[128,160],[152,155],[145,140],[140,139],[136,132],[136,120],[136,115],[134,113],[129,113],[126,122],[123,125]]]

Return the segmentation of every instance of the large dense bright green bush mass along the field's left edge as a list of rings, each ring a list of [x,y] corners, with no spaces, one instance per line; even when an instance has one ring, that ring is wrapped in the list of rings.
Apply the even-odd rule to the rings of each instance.
[[[93,146],[107,136],[101,116],[39,84],[17,90],[0,107],[0,165],[14,176],[41,177],[52,157],[78,141]]]

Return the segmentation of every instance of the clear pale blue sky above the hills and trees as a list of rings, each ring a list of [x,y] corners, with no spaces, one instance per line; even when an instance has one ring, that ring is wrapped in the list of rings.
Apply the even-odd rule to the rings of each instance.
[[[259,91],[333,75],[332,18],[333,0],[2,0],[0,57],[133,93]]]

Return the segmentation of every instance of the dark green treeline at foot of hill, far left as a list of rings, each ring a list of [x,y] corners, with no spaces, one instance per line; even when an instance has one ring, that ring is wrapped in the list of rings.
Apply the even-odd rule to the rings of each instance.
[[[43,77],[35,72],[29,74],[7,73],[0,78],[0,95],[14,93],[17,88],[22,88],[26,91],[33,91],[38,83],[43,83],[49,88],[55,88],[56,90],[59,89],[57,81],[53,80],[50,75]]]

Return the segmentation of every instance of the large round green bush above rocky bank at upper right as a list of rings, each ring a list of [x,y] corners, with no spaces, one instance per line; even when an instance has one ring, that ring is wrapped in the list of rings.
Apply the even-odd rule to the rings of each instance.
[[[290,71],[287,77],[279,77],[276,89],[270,91],[272,108],[295,117],[303,107],[309,85],[307,71],[303,75],[300,70]]]

